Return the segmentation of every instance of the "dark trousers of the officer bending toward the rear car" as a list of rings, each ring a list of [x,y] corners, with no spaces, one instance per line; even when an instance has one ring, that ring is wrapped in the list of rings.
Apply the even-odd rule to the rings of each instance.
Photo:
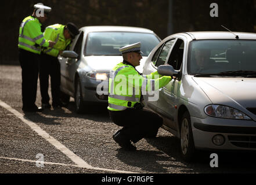
[[[60,62],[57,57],[41,54],[40,56],[40,91],[42,103],[49,103],[49,76],[51,76],[52,105],[60,102]]]

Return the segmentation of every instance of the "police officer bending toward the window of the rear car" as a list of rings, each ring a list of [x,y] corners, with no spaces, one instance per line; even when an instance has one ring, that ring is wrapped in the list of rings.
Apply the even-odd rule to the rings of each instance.
[[[52,106],[53,108],[63,106],[60,101],[60,62],[57,56],[62,54],[62,51],[70,45],[71,39],[78,34],[79,31],[73,23],[49,25],[45,29],[45,38],[55,40],[56,44],[53,48],[44,49],[41,54],[39,79],[42,108],[51,108],[48,95],[49,76],[51,76]]]

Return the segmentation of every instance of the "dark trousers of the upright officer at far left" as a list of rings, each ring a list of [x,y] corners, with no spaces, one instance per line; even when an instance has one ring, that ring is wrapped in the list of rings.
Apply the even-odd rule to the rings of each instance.
[[[39,54],[19,49],[19,61],[22,76],[22,102],[23,109],[35,109],[37,99],[37,80],[39,67]]]

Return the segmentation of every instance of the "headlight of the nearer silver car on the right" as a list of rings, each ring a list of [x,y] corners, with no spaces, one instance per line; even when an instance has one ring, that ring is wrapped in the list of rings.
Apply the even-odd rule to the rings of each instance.
[[[224,105],[208,105],[204,108],[208,116],[219,117],[224,119],[251,120],[249,116],[237,109]]]

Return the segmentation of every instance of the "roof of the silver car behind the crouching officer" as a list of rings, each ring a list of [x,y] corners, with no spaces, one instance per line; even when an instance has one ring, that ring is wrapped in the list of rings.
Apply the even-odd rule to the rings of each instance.
[[[121,31],[121,32],[142,32],[154,34],[150,29],[139,27],[123,27],[123,26],[89,26],[80,28],[84,32],[102,32],[102,31]]]

